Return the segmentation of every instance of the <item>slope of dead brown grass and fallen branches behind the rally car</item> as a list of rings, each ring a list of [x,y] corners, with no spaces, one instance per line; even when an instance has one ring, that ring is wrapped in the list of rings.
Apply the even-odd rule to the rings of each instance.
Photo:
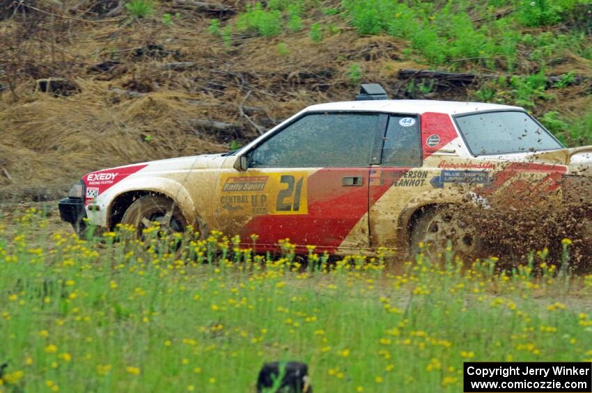
[[[179,3],[130,19],[113,12],[115,1],[0,0],[0,201],[57,198],[91,170],[228,150],[304,106],[351,99],[359,81],[382,83],[396,98],[471,99],[478,86],[410,91],[398,70],[429,66],[401,56],[408,42],[359,35],[320,8],[301,31],[233,33],[228,45],[208,31],[210,19],[230,23],[244,2],[227,1],[224,12]],[[313,42],[314,21],[335,29]],[[554,67],[592,76],[586,59]],[[56,97],[42,92],[44,78],[68,82],[54,81],[62,88]],[[592,104],[586,89],[556,89],[556,100],[535,112],[577,115]]]

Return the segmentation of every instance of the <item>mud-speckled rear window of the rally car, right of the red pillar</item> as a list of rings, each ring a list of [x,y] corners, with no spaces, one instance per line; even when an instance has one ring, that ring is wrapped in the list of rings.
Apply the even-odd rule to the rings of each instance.
[[[561,149],[549,131],[520,111],[474,113],[455,118],[472,154],[510,154]]]

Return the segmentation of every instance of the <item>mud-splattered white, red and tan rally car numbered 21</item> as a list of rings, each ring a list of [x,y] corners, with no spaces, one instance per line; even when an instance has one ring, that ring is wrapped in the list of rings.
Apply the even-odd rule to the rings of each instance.
[[[239,234],[257,251],[290,239],[335,254],[479,247],[478,228],[451,215],[469,200],[517,189],[556,195],[586,176],[592,147],[567,149],[524,109],[390,100],[375,84],[356,101],[309,106],[233,152],[88,173],[59,202],[84,223],[141,231]],[[87,217],[88,220],[83,218]]]

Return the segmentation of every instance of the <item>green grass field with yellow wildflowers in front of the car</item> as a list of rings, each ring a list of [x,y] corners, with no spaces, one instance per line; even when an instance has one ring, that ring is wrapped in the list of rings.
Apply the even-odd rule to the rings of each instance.
[[[271,360],[307,362],[317,392],[458,392],[466,360],[592,358],[592,275],[568,273],[567,240],[563,262],[497,273],[46,226],[29,209],[0,228],[1,392],[254,392]]]

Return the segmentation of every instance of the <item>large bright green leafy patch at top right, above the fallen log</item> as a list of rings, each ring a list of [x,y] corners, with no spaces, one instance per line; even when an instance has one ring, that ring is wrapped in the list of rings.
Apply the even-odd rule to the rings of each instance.
[[[540,33],[534,38],[521,37],[520,24],[539,26],[554,24],[568,10],[592,3],[591,0],[494,0],[488,3],[449,1],[435,2],[390,0],[343,0],[345,16],[360,34],[386,32],[410,40],[411,47],[430,64],[458,67],[451,63],[465,59],[488,68],[504,67],[513,72],[517,64],[517,45],[529,48],[530,60],[548,63],[565,48],[577,48],[579,56],[592,58],[589,40],[575,33],[556,35]],[[517,4],[517,6],[516,6]],[[513,6],[515,12],[499,17],[496,7]],[[479,15],[478,24],[473,22]],[[571,14],[570,14],[571,15]],[[579,25],[578,25],[579,26]]]

